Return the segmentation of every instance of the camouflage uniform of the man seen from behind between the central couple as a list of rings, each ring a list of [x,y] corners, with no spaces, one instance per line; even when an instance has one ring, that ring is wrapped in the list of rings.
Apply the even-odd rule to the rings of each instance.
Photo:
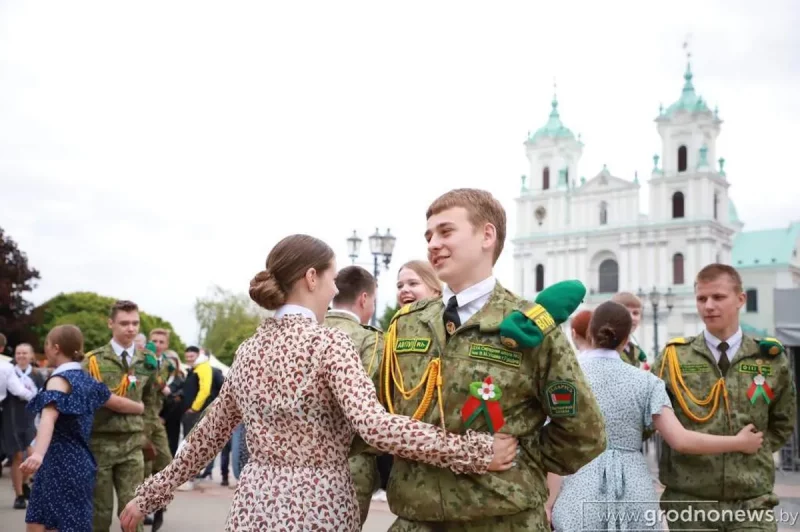
[[[367,374],[377,385],[378,371],[383,354],[383,333],[370,325],[362,325],[358,317],[347,311],[329,310],[325,315],[326,327],[334,327],[347,333],[361,354],[361,362]],[[367,520],[372,494],[378,489],[377,456],[362,452],[350,457],[350,475],[356,487],[358,508],[361,511],[361,526]]]

